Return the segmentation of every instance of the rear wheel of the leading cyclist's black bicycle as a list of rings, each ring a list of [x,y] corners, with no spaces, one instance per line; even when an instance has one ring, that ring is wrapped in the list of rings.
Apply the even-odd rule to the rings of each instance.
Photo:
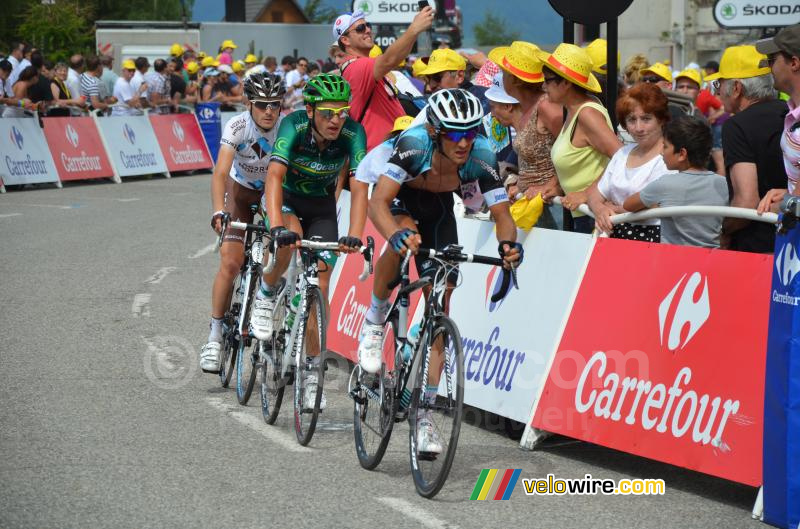
[[[386,453],[398,406],[396,388],[400,381],[397,372],[402,356],[397,345],[395,319],[386,324],[384,337],[384,340],[390,337],[393,342],[394,369],[389,371],[383,362],[380,372],[372,374],[356,365],[356,385],[351,391],[356,455],[358,462],[367,470],[377,467]]]

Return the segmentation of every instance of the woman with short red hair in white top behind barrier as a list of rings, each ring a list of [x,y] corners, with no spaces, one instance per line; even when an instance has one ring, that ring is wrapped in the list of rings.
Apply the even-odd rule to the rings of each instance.
[[[625,199],[669,172],[661,152],[662,127],[669,121],[667,96],[660,88],[641,83],[617,100],[617,119],[636,143],[618,150],[597,185],[589,187],[589,207],[597,229],[617,239],[660,242],[658,219],[637,224],[611,224],[611,217],[624,213]]]

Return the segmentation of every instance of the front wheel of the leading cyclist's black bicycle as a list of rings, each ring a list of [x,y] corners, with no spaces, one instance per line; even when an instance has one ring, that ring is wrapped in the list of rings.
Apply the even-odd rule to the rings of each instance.
[[[464,354],[461,335],[453,320],[439,314],[435,317],[433,331],[425,336],[420,355],[433,355],[434,350],[443,351],[441,382],[444,382],[445,395],[437,397],[434,403],[424,399],[424,390],[431,380],[431,369],[426,369],[430,358],[419,359],[414,377],[414,390],[409,409],[409,453],[411,474],[417,492],[426,498],[434,497],[444,486],[453,458],[456,455],[458,436],[461,432],[461,417],[464,405]],[[441,386],[440,386],[441,387]],[[432,424],[438,433],[441,450],[423,452],[419,444],[421,429]]]

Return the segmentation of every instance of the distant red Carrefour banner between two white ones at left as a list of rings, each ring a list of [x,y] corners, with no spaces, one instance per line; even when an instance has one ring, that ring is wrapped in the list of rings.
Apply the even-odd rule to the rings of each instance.
[[[43,118],[42,121],[47,146],[62,181],[114,176],[92,118]]]

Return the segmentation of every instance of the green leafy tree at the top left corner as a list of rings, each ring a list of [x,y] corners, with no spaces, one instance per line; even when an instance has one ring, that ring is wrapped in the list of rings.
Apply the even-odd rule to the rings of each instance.
[[[53,61],[66,60],[73,53],[94,48],[91,7],[75,0],[29,5],[21,17],[17,33]]]

